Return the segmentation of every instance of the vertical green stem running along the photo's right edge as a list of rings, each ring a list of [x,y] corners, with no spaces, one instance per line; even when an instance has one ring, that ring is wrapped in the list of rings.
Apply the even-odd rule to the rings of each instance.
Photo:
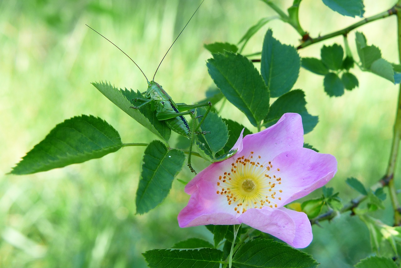
[[[398,1],[397,5],[401,5],[401,0]],[[399,6],[397,8],[399,8]],[[401,12],[397,13],[397,26],[398,26],[397,27],[398,53],[399,53],[399,60],[401,62]],[[391,205],[393,206],[393,211],[394,211],[394,225],[396,225],[396,226],[401,225],[401,214],[400,214],[401,207],[400,207],[400,203],[397,199],[397,193],[396,193],[396,189],[395,189],[395,185],[394,185],[394,172],[395,172],[395,166],[397,164],[397,156],[398,156],[400,138],[401,138],[401,84],[399,86],[397,114],[395,116],[395,122],[394,122],[393,140],[391,142],[390,159],[389,159],[389,163],[387,165],[386,175],[384,177],[385,181],[388,181]]]

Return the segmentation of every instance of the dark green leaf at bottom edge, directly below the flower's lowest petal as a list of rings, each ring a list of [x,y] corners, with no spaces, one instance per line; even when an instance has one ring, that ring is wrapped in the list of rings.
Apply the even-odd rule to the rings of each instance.
[[[233,256],[237,268],[314,268],[318,262],[312,256],[270,239],[257,238],[244,243]]]

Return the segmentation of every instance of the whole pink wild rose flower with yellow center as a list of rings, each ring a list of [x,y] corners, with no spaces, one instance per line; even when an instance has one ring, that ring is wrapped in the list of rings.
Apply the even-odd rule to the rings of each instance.
[[[303,148],[299,114],[284,114],[276,124],[242,138],[237,153],[213,163],[185,187],[188,205],[178,214],[180,227],[245,223],[294,248],[312,242],[305,213],[284,205],[325,185],[337,171],[337,160]]]

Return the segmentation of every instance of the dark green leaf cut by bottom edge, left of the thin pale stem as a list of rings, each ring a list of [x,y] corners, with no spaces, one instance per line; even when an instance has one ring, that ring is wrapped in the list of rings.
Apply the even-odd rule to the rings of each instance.
[[[148,250],[144,255],[150,268],[219,268],[223,252],[215,248],[196,250]]]

